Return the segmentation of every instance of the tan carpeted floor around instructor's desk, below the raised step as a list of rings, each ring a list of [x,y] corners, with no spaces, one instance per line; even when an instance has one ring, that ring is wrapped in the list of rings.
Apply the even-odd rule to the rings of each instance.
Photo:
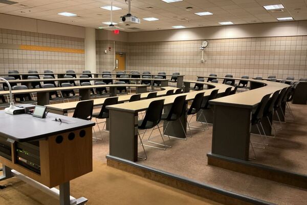
[[[87,205],[100,204],[195,204],[218,205],[199,196],[129,174],[94,161],[93,172],[71,181],[71,195],[86,197]],[[55,205],[59,201],[13,177],[0,182],[1,205]]]

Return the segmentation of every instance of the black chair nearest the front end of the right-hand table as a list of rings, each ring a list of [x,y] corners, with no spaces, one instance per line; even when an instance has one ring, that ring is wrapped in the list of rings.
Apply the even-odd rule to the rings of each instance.
[[[252,113],[251,125],[252,125],[252,126],[253,126],[253,125],[256,125],[256,127],[257,127],[257,129],[258,129],[258,132],[259,132],[259,134],[260,134],[260,136],[261,136],[262,142],[263,142],[263,143],[261,144],[261,143],[257,143],[257,142],[252,142],[252,141],[250,141],[250,142],[253,143],[253,144],[260,144],[260,145],[264,145],[264,146],[267,146],[267,145],[268,145],[268,144],[266,144],[266,139],[265,139],[264,136],[262,135],[262,133],[261,133],[261,131],[260,131],[258,125],[260,125],[262,131],[264,132],[263,134],[264,134],[265,137],[266,137],[267,135],[266,135],[266,132],[265,132],[265,130],[264,130],[264,127],[262,126],[261,119],[262,119],[262,117],[264,116],[264,110],[265,110],[265,108],[266,108],[266,106],[267,106],[267,104],[268,104],[268,101],[269,101],[269,99],[270,99],[270,96],[271,96],[271,94],[267,94],[267,95],[265,95],[264,97],[262,97],[262,99],[261,99],[260,103],[258,104],[258,106],[257,106],[257,108],[256,108],[256,110],[255,110],[255,112]],[[252,146],[252,148],[253,148],[253,146]],[[258,147],[258,148],[265,149],[266,147]],[[253,149],[254,149],[254,148],[253,148]],[[254,154],[255,154],[255,152],[254,152]],[[255,155],[255,156],[256,156],[256,155]]]

